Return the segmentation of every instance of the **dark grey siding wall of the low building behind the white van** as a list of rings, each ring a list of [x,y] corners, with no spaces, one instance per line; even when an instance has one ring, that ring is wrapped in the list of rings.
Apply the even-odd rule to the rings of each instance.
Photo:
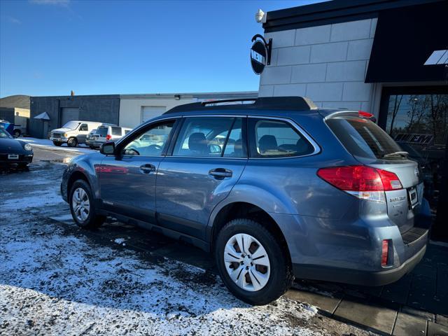
[[[50,121],[48,130],[61,127],[61,111],[64,107],[79,109],[79,119],[113,123],[118,125],[120,115],[120,96],[62,96],[62,97],[31,97],[31,118],[29,120],[29,134],[31,137],[45,138],[42,120],[34,119],[43,112],[48,113]]]

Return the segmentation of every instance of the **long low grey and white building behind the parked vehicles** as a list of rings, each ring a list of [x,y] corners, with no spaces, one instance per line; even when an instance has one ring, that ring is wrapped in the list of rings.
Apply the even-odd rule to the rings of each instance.
[[[133,128],[180,104],[255,97],[258,97],[256,91],[31,97],[29,134],[31,137],[46,138],[49,131],[62,127],[70,120],[97,121]]]

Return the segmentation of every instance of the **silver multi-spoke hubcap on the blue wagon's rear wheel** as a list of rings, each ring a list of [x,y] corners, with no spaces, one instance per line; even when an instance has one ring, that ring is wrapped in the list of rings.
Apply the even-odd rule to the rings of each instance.
[[[240,233],[231,237],[224,250],[225,268],[239,288],[255,292],[269,280],[270,262],[260,241]]]

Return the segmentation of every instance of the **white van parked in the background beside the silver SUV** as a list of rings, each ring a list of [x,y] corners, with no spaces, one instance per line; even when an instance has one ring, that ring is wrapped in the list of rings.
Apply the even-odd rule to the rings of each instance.
[[[90,131],[97,129],[101,125],[112,125],[105,123],[95,123],[92,121],[78,121],[73,120],[66,123],[61,128],[52,130],[50,134],[50,140],[53,141],[55,146],[62,146],[67,144],[69,147],[76,147],[78,144],[85,144],[87,134]]]

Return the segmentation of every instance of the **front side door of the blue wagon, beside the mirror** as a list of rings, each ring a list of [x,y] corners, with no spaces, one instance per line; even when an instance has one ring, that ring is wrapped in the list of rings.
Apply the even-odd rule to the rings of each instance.
[[[176,120],[155,122],[117,144],[97,167],[104,209],[155,223],[155,177]]]

